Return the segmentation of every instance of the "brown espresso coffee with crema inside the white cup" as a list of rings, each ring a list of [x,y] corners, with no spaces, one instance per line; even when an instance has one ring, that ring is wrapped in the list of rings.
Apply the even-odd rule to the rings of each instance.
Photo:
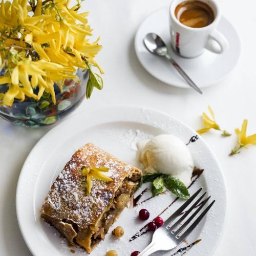
[[[203,28],[214,21],[214,11],[201,1],[185,1],[175,9],[180,23],[191,28]]]

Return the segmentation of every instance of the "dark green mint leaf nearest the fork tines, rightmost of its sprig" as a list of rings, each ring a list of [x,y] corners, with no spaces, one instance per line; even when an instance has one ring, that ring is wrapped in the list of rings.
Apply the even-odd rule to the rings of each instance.
[[[174,178],[169,175],[164,175],[163,177],[164,186],[169,189],[174,195],[181,199],[188,199],[189,193],[187,187],[179,179]]]

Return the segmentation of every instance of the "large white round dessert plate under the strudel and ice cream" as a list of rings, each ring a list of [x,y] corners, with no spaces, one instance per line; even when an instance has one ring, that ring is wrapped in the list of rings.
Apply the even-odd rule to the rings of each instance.
[[[154,255],[170,256],[180,248],[186,248],[183,252],[188,256],[211,255],[220,240],[226,213],[225,182],[216,157],[204,140],[178,119],[136,106],[108,106],[74,115],[55,126],[34,146],[24,163],[16,191],[19,227],[33,255],[73,255],[71,250],[75,250],[75,255],[86,255],[81,248],[69,247],[59,232],[40,218],[41,205],[52,183],[79,147],[92,142],[121,160],[139,166],[136,160],[136,142],[160,134],[173,134],[187,144],[195,165],[204,169],[201,176],[189,187],[189,193],[192,194],[202,187],[216,203],[185,242],[171,252]],[[146,186],[150,184],[143,184],[136,195]],[[90,255],[105,255],[111,249],[124,256],[129,256],[134,250],[141,251],[150,243],[152,232],[142,234],[129,242],[147,223],[138,220],[139,210],[148,209],[150,219],[153,219],[166,209],[161,215],[165,220],[183,203],[182,200],[177,200],[169,206],[175,199],[169,191],[146,200],[150,197],[151,191],[148,189],[136,207],[125,208],[105,240]],[[146,201],[143,202],[144,200]],[[124,229],[124,236],[120,239],[111,234],[118,225]],[[193,243],[194,246],[191,245]]]

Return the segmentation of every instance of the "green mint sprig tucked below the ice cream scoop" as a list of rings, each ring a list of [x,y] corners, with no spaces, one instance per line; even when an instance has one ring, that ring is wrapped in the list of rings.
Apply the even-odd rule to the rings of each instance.
[[[184,185],[184,183],[179,179],[172,177],[170,175],[161,174],[161,173],[146,174],[142,176],[140,181],[140,186],[146,182],[153,182],[152,183],[153,197],[162,193],[164,187],[170,190],[170,192],[172,192],[175,196],[183,200],[187,200],[190,197],[187,187]]]

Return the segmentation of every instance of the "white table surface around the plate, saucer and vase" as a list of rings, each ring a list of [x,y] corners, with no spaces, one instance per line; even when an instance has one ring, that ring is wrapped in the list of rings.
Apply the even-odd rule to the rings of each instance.
[[[140,65],[134,51],[134,36],[143,19],[169,0],[87,0],[95,35],[104,46],[97,60],[105,71],[103,91],[95,90],[75,111],[84,115],[97,105],[133,104],[169,113],[194,129],[201,127],[200,115],[208,104],[223,128],[234,133],[244,118],[248,133],[256,133],[256,1],[219,0],[222,14],[237,28],[242,54],[234,71],[222,82],[193,90],[168,86]],[[214,70],[212,71],[214,72]],[[35,143],[50,130],[26,129],[0,120],[0,255],[31,255],[19,231],[15,192],[23,163]],[[236,136],[220,137],[218,132],[203,135],[219,159],[228,191],[227,218],[215,256],[256,255],[256,146],[228,157]],[[33,234],[31,234],[33,236]]]

